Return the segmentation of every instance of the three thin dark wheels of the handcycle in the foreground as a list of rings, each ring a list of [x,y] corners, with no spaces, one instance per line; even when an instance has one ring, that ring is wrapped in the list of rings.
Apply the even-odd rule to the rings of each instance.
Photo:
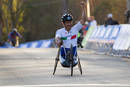
[[[58,61],[59,61],[59,56],[60,56],[60,48],[58,49],[57,56],[55,58],[53,75],[56,72],[57,64],[58,64]],[[67,54],[67,58],[69,58],[69,60],[70,60],[71,76],[73,76],[73,67],[75,67],[75,66],[73,66],[74,60],[73,60],[73,46],[72,45],[71,45],[69,54]],[[79,68],[80,74],[82,75],[82,67],[81,67],[80,58],[79,58],[78,55],[77,55],[77,59],[78,59],[78,68]]]

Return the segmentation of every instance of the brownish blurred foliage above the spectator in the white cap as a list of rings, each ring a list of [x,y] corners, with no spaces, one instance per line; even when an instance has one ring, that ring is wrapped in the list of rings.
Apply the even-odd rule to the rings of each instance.
[[[124,23],[126,10],[126,0],[95,0],[96,6],[92,15],[95,16],[98,24],[104,24],[104,20],[108,13],[113,14],[113,18],[119,23]]]

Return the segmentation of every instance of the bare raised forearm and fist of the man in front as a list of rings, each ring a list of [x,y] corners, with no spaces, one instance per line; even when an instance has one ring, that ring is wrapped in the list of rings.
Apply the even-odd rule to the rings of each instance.
[[[85,2],[82,1],[80,2],[80,6],[81,6],[81,20],[80,20],[80,23],[81,24],[84,24],[85,21],[86,21],[86,5],[85,5]]]

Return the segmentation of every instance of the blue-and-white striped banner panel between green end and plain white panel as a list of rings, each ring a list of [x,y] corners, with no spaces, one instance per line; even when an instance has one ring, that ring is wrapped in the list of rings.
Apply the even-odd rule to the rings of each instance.
[[[98,43],[114,43],[120,32],[120,25],[115,26],[98,26],[94,29],[92,35],[89,38],[89,42]]]

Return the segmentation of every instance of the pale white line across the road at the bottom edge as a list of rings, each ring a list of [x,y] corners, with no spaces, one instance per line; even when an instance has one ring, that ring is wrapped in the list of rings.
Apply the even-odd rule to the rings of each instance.
[[[12,85],[2,87],[75,87],[75,86],[98,86],[98,87],[130,87],[130,84],[43,84],[43,85]]]

